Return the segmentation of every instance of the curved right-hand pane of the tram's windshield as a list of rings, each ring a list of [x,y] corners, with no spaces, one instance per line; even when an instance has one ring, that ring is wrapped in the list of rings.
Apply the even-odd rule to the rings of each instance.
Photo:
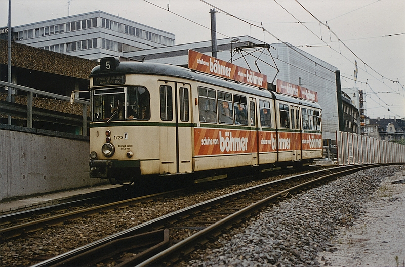
[[[144,87],[127,88],[127,119],[150,119],[150,95]]]

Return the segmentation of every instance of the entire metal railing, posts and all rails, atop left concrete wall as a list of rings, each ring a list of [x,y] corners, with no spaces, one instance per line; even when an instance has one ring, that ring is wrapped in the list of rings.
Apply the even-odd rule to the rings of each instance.
[[[82,135],[87,135],[88,129],[88,117],[87,109],[90,104],[89,101],[82,99],[75,99],[75,103],[82,104],[82,116],[68,114],[63,112],[55,112],[51,110],[45,110],[35,108],[32,106],[33,95],[48,97],[52,99],[70,101],[70,97],[62,96],[54,93],[49,93],[34,88],[29,88],[13,83],[0,81],[0,86],[8,88],[8,90],[18,90],[27,93],[27,105],[16,104],[8,101],[0,101],[0,112],[8,116],[22,117],[27,119],[27,128],[32,128],[33,118],[43,120],[47,122],[58,122],[66,125],[80,126]]]

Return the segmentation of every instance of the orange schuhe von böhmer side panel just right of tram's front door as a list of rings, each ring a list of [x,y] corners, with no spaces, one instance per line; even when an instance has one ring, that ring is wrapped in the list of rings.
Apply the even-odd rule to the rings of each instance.
[[[194,129],[195,156],[257,152],[256,132],[224,129]]]

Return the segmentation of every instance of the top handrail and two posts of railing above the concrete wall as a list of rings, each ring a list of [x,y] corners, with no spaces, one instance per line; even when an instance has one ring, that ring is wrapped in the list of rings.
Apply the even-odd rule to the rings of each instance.
[[[70,97],[68,96],[62,96],[54,93],[49,93],[41,90],[37,90],[34,88],[30,87],[25,87],[22,85],[18,84],[13,84],[5,81],[0,81],[0,86],[5,86],[8,88],[15,88],[20,91],[27,92],[27,128],[32,128],[32,99],[33,99],[33,94],[45,96],[45,97],[50,97],[58,100],[63,100],[70,102]],[[90,105],[90,101],[86,101],[83,99],[75,99],[76,103],[80,103],[83,105],[82,108],[82,135],[86,136],[87,135],[87,105]]]

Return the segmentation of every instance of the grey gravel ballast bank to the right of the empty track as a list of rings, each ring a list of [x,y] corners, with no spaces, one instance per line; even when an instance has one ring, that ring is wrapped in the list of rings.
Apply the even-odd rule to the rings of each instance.
[[[296,194],[263,210],[240,229],[224,234],[209,248],[191,254],[182,265],[329,265],[330,257],[319,257],[320,253],[339,251],[334,238],[366,214],[365,205],[382,181],[404,169],[388,166],[363,170]],[[405,247],[405,241],[401,242],[399,246]],[[341,261],[334,263],[340,265]]]

